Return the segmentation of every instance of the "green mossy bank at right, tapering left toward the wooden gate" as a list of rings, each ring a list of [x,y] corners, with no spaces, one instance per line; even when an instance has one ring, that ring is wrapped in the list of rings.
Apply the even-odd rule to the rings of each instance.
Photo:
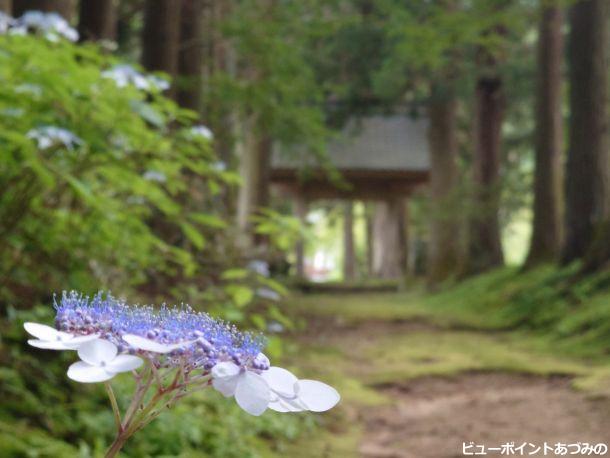
[[[575,269],[504,268],[467,279],[436,294],[297,296],[299,315],[332,317],[338,325],[423,320],[442,328],[524,330],[548,349],[572,357],[607,359],[610,351],[610,273],[575,281]]]

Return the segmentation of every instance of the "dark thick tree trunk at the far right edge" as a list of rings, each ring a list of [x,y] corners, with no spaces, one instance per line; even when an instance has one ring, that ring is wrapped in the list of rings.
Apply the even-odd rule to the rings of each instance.
[[[570,8],[564,264],[586,254],[595,225],[608,217],[608,6],[587,0]]]

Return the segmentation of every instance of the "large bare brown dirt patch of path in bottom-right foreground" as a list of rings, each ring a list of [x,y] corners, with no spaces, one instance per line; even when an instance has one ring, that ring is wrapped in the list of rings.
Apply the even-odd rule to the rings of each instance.
[[[365,457],[457,457],[470,441],[487,447],[527,443],[525,456],[535,451],[529,443],[610,443],[608,402],[586,399],[567,378],[464,374],[385,390],[394,405],[361,412]]]

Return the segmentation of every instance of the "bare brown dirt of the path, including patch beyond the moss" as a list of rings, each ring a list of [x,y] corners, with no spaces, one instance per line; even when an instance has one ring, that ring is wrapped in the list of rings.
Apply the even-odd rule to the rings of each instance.
[[[341,348],[359,365],[366,360],[365,345],[391,341],[393,335],[398,338],[409,332],[434,334],[432,340],[447,332],[419,321],[345,325],[328,318],[309,320],[304,343]],[[414,364],[426,363],[422,358]],[[610,403],[573,390],[570,380],[567,376],[483,370],[373,385],[392,402],[349,406],[353,409],[350,417],[362,425],[357,453],[366,458],[460,457],[465,456],[463,443],[472,441],[486,447],[526,443],[523,451],[517,449],[513,456],[545,456],[542,449],[534,453],[545,442],[553,446],[610,444]],[[487,451],[487,455],[502,456],[500,451]],[[546,456],[555,455],[547,452]]]

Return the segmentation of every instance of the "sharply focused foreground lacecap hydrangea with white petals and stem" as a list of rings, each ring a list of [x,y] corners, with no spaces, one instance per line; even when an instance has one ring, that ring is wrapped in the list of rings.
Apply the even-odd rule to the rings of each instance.
[[[24,324],[37,338],[28,343],[77,350],[80,361],[69,367],[68,377],[81,383],[105,382],[117,422],[117,437],[107,456],[114,456],[163,407],[208,386],[234,397],[251,415],[267,409],[323,412],[340,400],[331,386],[299,380],[272,366],[262,353],[262,336],[240,332],[187,305],[132,306],[101,293],[88,298],[64,292],[55,309],[55,328]],[[122,372],[131,372],[137,382],[124,418],[108,383]]]

